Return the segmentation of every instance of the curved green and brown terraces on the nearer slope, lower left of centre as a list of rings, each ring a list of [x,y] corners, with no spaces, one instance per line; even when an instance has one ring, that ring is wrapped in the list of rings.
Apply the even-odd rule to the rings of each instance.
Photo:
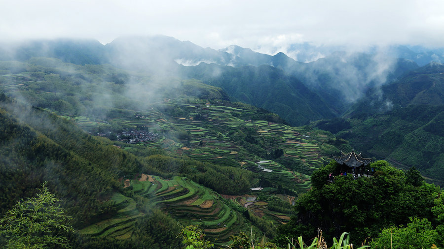
[[[142,174],[140,179],[128,181],[132,191],[144,196],[149,205],[160,207],[183,224],[199,225],[207,236],[218,241],[227,241],[245,224],[244,218],[226,205],[228,200],[184,177],[162,179]],[[80,230],[81,234],[118,239],[131,237],[136,219],[145,214],[137,209],[133,198],[120,193],[115,193],[109,201],[118,207],[115,216]]]

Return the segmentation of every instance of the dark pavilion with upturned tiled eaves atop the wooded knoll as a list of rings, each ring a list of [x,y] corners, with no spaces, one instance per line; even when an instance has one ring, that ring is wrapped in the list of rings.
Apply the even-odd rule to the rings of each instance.
[[[341,151],[341,154],[342,156],[333,156],[333,159],[341,165],[341,173],[351,171],[354,178],[358,178],[359,173],[361,176],[364,175],[365,166],[370,164],[371,158],[363,158],[361,157],[362,152],[356,154],[355,150],[348,154]]]

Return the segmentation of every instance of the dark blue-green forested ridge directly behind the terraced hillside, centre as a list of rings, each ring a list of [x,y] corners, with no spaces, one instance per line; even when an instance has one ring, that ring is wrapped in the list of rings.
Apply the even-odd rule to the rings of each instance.
[[[223,67],[202,63],[184,70],[187,77],[224,89],[232,100],[270,110],[292,125],[335,116],[322,97],[296,77],[272,66]]]

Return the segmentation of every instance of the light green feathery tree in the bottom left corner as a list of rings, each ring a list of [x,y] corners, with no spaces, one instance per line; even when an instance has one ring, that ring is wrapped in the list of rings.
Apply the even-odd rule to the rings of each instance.
[[[60,199],[49,192],[46,182],[37,197],[20,200],[0,219],[0,234],[6,238],[6,248],[70,248],[62,232],[74,232]]]

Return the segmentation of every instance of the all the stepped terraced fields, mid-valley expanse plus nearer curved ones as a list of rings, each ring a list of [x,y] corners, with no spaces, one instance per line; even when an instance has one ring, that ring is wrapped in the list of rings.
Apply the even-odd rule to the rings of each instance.
[[[329,138],[332,138],[328,132],[250,120],[253,112],[248,110],[209,104],[199,99],[186,102],[171,99],[163,104],[186,115],[169,117],[150,108],[137,112],[133,118],[115,118],[111,121],[132,129],[145,126],[150,132],[159,134],[156,139],[140,145],[257,173],[257,185],[251,187],[263,188],[259,192],[252,192],[256,196],[278,191],[285,193],[286,198],[294,198],[306,192],[310,188],[311,172],[328,162],[330,156],[338,151],[328,144]],[[96,125],[88,123],[83,117],[77,117],[76,121],[79,125]],[[188,134],[187,138],[165,135],[177,130]],[[245,134],[250,136],[248,142]],[[277,148],[282,149],[283,155],[275,158],[271,155]],[[267,182],[268,185],[259,186],[259,182]],[[157,176],[144,177],[143,174],[140,179],[129,180],[128,183],[132,192],[143,196],[148,205],[160,207],[184,224],[200,225],[209,237],[218,238],[218,241],[228,240],[230,234],[246,230],[250,224],[230,208],[233,205],[247,208],[274,224],[290,219],[290,214],[270,211],[266,202],[247,201],[245,196],[227,200],[184,177],[162,179]],[[130,197],[115,194],[111,201],[118,207],[117,214],[112,219],[84,228],[81,233],[121,239],[131,236],[135,220],[144,214]]]

